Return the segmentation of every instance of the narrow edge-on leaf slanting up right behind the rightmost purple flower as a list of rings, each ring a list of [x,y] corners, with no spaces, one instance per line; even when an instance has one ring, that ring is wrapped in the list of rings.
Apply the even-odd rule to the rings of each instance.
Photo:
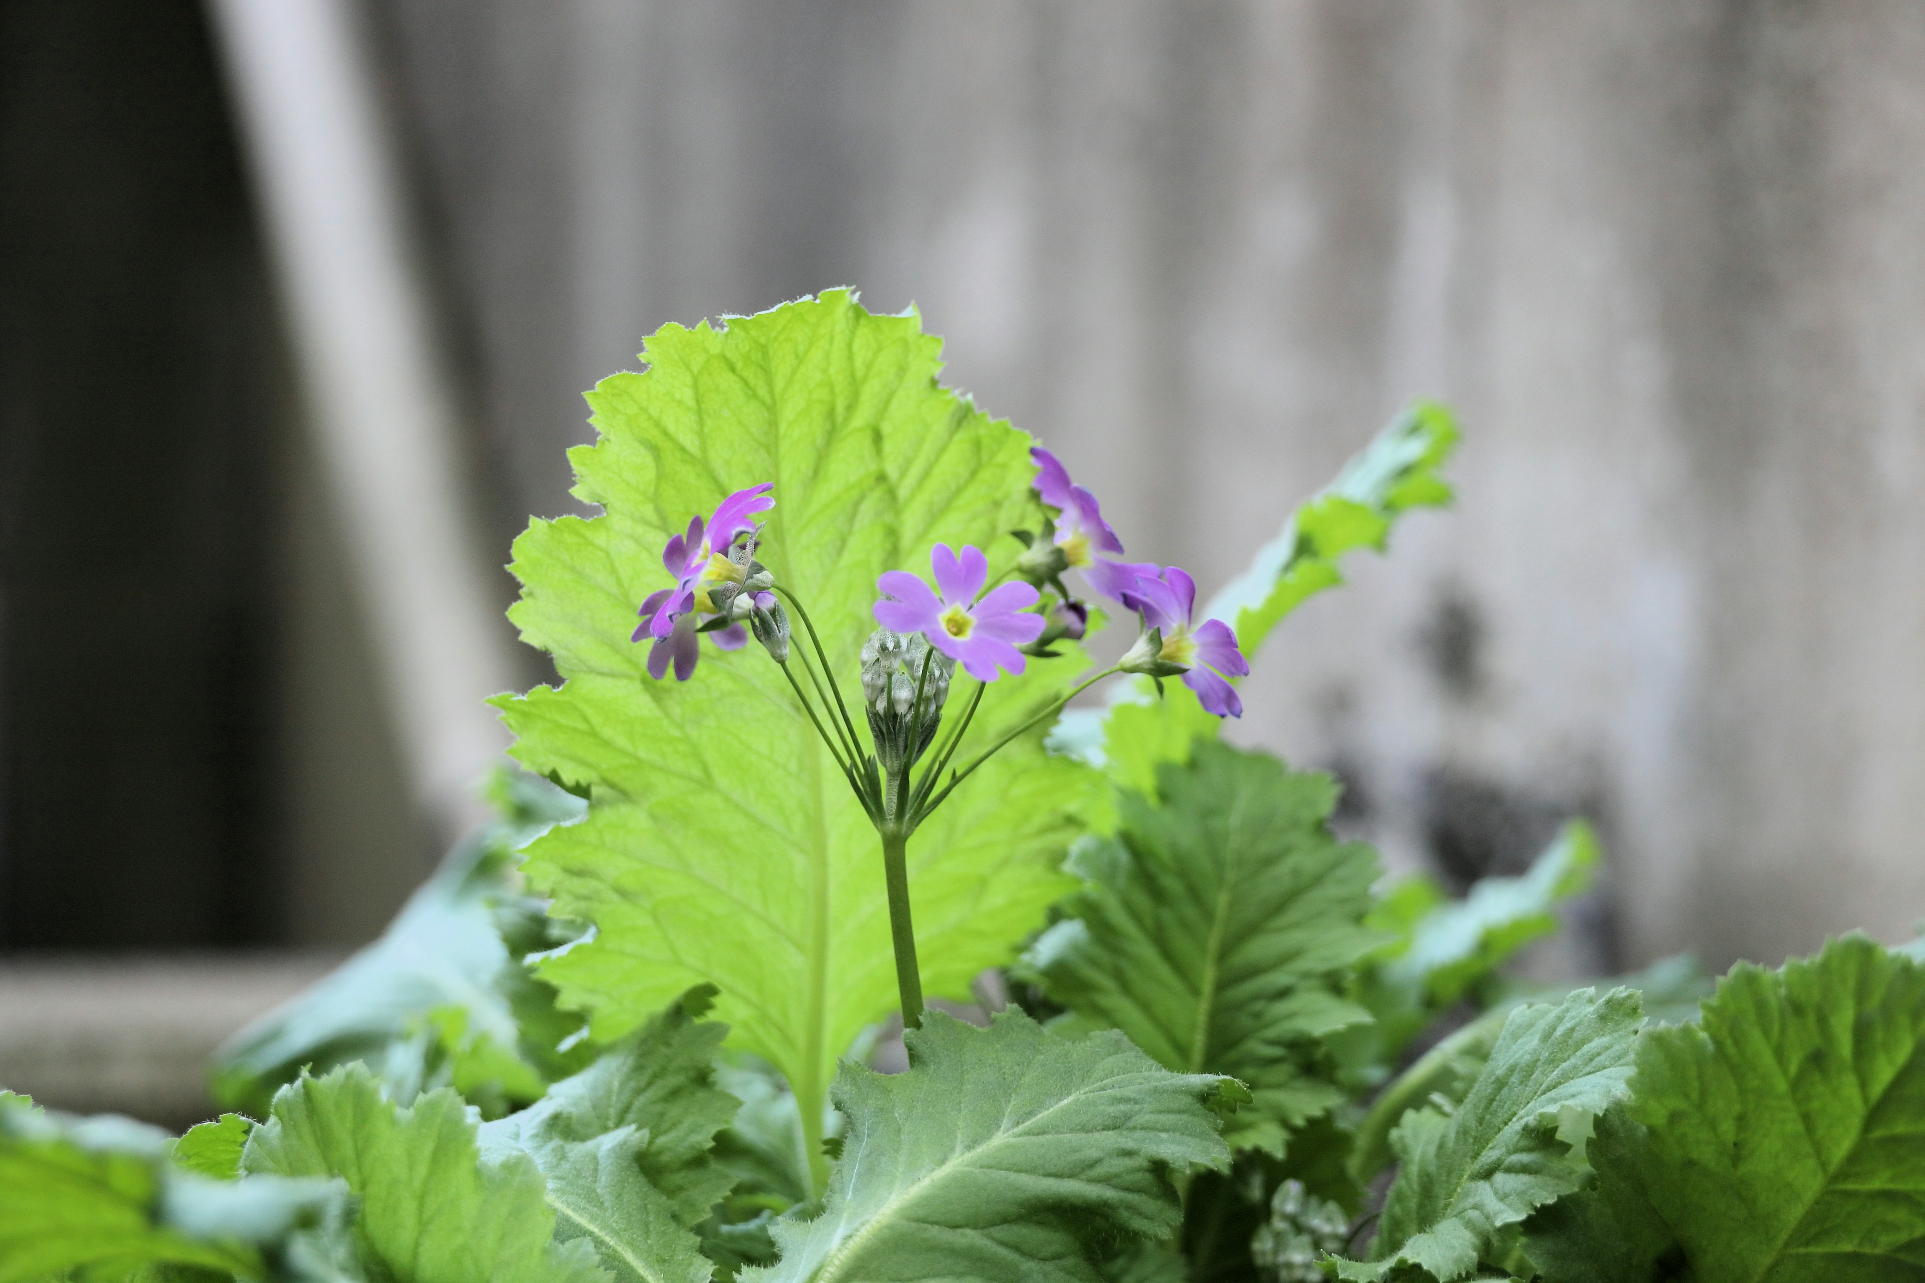
[[[1211,598],[1203,616],[1230,623],[1244,656],[1253,658],[1292,610],[1344,583],[1338,564],[1346,552],[1380,552],[1398,514],[1450,502],[1442,467],[1455,444],[1450,410],[1428,400],[1407,406],[1336,481],[1290,516],[1282,533]],[[1159,696],[1151,681],[1140,677],[1111,687],[1107,708],[1065,712],[1049,744],[1109,769],[1122,789],[1149,792],[1157,762],[1188,760],[1190,741],[1215,739],[1220,723],[1182,683],[1165,683]]]

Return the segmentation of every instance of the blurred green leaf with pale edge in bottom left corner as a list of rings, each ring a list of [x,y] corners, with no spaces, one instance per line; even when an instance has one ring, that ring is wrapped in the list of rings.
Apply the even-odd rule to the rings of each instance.
[[[171,1166],[154,1127],[23,1100],[0,1096],[0,1283],[169,1266],[258,1279],[339,1204],[331,1181],[212,1181]]]

